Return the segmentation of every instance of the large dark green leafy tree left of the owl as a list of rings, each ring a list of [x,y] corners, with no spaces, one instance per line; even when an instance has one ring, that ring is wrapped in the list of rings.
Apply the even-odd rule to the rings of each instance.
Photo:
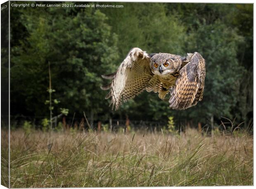
[[[116,35],[107,17],[95,9],[22,9],[28,37],[12,49],[12,103],[26,112],[47,115],[48,62],[51,63],[53,98],[70,113],[103,112],[107,107],[101,74],[114,71]],[[20,101],[23,101],[20,103]],[[22,108],[19,109],[22,111]]]

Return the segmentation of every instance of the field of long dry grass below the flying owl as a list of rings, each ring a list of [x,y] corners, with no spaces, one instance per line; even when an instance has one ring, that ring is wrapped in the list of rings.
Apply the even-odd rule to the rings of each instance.
[[[253,185],[252,136],[11,131],[14,188],[210,185]]]

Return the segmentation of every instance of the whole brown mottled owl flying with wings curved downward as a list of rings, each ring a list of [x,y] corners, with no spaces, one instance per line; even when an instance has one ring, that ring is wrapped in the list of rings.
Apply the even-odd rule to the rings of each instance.
[[[170,92],[170,107],[187,109],[203,98],[205,60],[197,52],[186,57],[169,53],[147,54],[140,48],[132,48],[113,74],[102,75],[112,79],[101,87],[109,90],[105,99],[111,98],[112,109],[134,98],[142,91],[158,92],[164,99]]]

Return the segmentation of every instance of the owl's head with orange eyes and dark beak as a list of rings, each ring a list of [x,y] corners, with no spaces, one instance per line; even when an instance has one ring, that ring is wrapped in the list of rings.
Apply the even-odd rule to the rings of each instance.
[[[150,67],[153,74],[164,76],[174,74],[180,69],[182,57],[169,53],[157,53],[151,57]]]

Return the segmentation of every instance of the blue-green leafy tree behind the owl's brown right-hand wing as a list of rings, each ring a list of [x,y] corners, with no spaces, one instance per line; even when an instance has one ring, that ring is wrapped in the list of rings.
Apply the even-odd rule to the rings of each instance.
[[[238,58],[239,46],[244,44],[245,38],[238,25],[230,24],[230,16],[237,11],[236,5],[176,4],[175,7],[187,25],[184,51],[198,51],[206,60],[203,101],[186,111],[173,112],[175,117],[204,124],[212,124],[211,117],[234,119],[240,113],[237,107],[239,88],[247,72]]]

